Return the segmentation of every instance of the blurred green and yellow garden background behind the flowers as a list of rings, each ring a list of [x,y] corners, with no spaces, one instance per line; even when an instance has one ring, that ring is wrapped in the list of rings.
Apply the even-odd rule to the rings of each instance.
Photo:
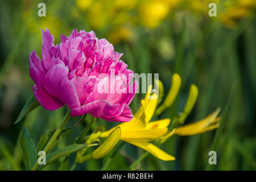
[[[38,16],[38,4],[46,3],[46,17]],[[209,3],[217,4],[217,16],[209,17]],[[199,97],[185,123],[195,122],[228,102],[237,82],[217,151],[217,170],[256,169],[256,1],[255,0],[78,0],[0,1],[0,170],[26,169],[18,144],[26,126],[37,143],[46,131],[56,129],[66,111],[38,107],[14,125],[32,95],[28,56],[40,55],[40,28],[48,28],[60,42],[73,29],[96,32],[113,43],[122,60],[137,73],[159,73],[165,96],[171,76],[179,73],[180,93],[172,107],[159,118],[174,118],[183,110],[189,86],[196,84]],[[143,94],[131,103],[133,113]],[[79,118],[72,118],[73,126]],[[157,118],[155,118],[157,119]],[[117,125],[98,119],[92,127]],[[72,144],[84,123],[61,139],[57,148]],[[163,162],[150,155],[138,169],[204,170],[216,131],[191,137],[175,136],[161,148],[176,157]],[[126,169],[143,150],[125,144],[115,155],[110,170]],[[63,158],[45,169],[69,169]],[[106,158],[89,160],[75,169],[98,170]]]

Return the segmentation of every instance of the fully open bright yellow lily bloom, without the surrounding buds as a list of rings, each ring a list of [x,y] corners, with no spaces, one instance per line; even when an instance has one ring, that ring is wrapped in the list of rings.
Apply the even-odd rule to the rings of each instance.
[[[152,86],[148,88],[146,97],[141,101],[142,106],[134,115],[134,118],[130,122],[116,126],[120,127],[122,131],[120,140],[143,148],[156,156],[156,158],[162,160],[175,160],[173,156],[150,143],[151,141],[160,139],[167,133],[167,126],[171,121],[170,119],[160,119],[158,121],[149,122],[158,104],[158,99],[149,99],[150,97],[156,98],[154,95],[155,93],[150,96],[151,88]],[[108,137],[116,127],[109,131],[105,131],[100,137]]]

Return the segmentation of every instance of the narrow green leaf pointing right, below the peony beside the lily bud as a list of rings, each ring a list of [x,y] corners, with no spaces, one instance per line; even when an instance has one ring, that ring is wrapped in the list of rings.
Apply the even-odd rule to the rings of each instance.
[[[53,161],[62,158],[63,156],[69,155],[73,152],[82,150],[85,148],[87,145],[86,144],[72,144],[70,146],[61,148],[60,150],[56,150],[46,156],[46,165],[42,166],[40,169],[46,167],[48,164],[52,163]]]

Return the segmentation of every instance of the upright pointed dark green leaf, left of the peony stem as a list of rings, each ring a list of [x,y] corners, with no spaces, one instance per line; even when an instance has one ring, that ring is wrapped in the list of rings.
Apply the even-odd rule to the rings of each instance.
[[[20,147],[22,148],[22,155],[24,159],[24,163],[28,170],[31,170],[31,167],[36,162],[36,148],[35,143],[30,137],[30,133],[26,127],[24,127],[24,131],[22,137],[20,138]]]

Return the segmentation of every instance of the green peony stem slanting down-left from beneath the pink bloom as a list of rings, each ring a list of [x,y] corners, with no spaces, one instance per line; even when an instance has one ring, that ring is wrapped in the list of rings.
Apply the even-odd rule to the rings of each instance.
[[[46,144],[46,147],[44,147],[44,149],[43,149],[44,152],[46,152],[46,153],[48,152],[49,148],[51,148],[52,144],[55,142],[56,138],[59,136],[61,130],[63,130],[64,126],[67,124],[69,118],[71,117],[70,111],[71,110],[69,109],[67,114],[63,118],[60,127],[55,131],[55,133],[52,135],[51,139],[49,139],[48,143]],[[39,165],[38,162],[36,162],[31,170],[35,171],[38,168],[38,165]]]

